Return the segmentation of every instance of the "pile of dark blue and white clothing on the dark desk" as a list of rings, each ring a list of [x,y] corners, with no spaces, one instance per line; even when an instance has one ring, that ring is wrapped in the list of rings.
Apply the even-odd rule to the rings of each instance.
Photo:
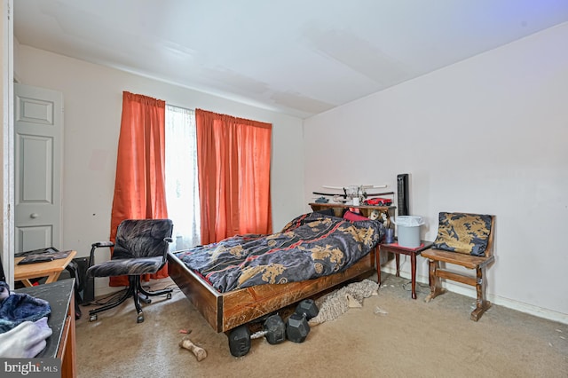
[[[10,292],[0,281],[0,357],[34,358],[51,336],[50,303],[28,294]]]

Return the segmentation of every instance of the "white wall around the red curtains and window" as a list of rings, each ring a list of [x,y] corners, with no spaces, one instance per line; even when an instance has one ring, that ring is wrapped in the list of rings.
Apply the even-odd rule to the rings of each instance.
[[[20,83],[63,92],[62,248],[88,256],[91,243],[108,240],[122,91],[271,122],[274,230],[304,211],[302,120],[16,44]]]

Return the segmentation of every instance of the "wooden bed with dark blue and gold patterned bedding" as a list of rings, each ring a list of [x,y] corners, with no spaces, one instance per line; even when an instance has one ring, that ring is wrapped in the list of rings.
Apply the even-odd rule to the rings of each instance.
[[[271,235],[237,235],[208,246],[170,252],[168,266],[171,279],[209,325],[217,333],[227,332],[372,274],[376,245],[383,235],[383,224],[377,221],[351,221],[313,212],[296,217]],[[239,248],[239,253],[233,249],[228,255],[231,258],[221,255],[232,248]],[[340,257],[338,249],[355,253]],[[235,255],[239,255],[238,261]],[[300,255],[304,257],[298,258],[310,256],[312,265],[319,266],[307,269],[305,261],[292,259],[289,267],[278,272],[267,269]],[[308,276],[303,277],[302,271]]]

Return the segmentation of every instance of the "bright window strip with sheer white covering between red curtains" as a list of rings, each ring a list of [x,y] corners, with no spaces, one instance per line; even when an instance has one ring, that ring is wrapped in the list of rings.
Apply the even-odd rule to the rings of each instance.
[[[166,202],[174,223],[172,249],[199,245],[200,204],[193,110],[166,105]]]

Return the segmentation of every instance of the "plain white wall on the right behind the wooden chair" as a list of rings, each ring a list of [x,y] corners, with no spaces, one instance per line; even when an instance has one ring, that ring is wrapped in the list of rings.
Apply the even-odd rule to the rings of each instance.
[[[563,24],[305,120],[306,198],[321,185],[396,192],[409,173],[423,238],[440,211],[496,215],[490,299],[568,323],[566,41]]]

